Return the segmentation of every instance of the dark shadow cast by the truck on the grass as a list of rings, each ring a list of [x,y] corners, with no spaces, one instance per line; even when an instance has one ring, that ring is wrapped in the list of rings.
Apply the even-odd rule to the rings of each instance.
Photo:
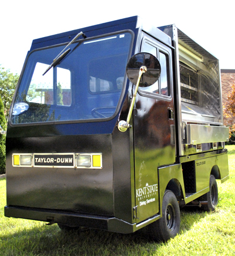
[[[206,212],[184,208],[181,234],[205,216]],[[164,246],[150,240],[147,228],[133,234],[117,234],[92,229],[61,231],[57,225],[41,222],[31,227],[0,235],[2,255],[152,255]]]

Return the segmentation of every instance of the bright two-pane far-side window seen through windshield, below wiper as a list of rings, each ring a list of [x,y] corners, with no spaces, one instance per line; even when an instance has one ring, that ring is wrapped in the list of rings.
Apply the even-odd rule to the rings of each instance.
[[[37,62],[26,94],[26,101],[38,104],[70,106],[72,99],[70,71],[64,68],[50,69],[42,76],[46,68],[48,68],[48,65]],[[54,82],[56,87],[53,87]]]

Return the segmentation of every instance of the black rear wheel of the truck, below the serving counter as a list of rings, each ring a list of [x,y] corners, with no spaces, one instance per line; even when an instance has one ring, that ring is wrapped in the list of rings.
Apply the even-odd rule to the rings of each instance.
[[[218,204],[218,187],[214,175],[210,175],[210,191],[202,196],[202,200],[208,202],[208,204],[202,205],[203,210],[215,210],[216,205]]]

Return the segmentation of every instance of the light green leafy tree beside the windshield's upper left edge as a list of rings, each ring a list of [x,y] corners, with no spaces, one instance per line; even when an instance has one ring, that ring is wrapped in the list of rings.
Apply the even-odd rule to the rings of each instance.
[[[11,107],[12,98],[19,79],[19,75],[12,74],[9,69],[0,67],[0,95],[4,104],[4,114],[6,120],[9,117],[9,109]]]

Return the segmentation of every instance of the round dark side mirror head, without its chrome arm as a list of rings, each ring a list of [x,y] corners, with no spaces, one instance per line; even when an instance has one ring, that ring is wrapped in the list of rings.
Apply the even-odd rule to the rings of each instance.
[[[132,84],[137,84],[140,67],[146,67],[147,71],[140,78],[140,87],[149,87],[160,77],[161,66],[159,60],[152,54],[141,52],[130,58],[126,65],[126,74]]]

